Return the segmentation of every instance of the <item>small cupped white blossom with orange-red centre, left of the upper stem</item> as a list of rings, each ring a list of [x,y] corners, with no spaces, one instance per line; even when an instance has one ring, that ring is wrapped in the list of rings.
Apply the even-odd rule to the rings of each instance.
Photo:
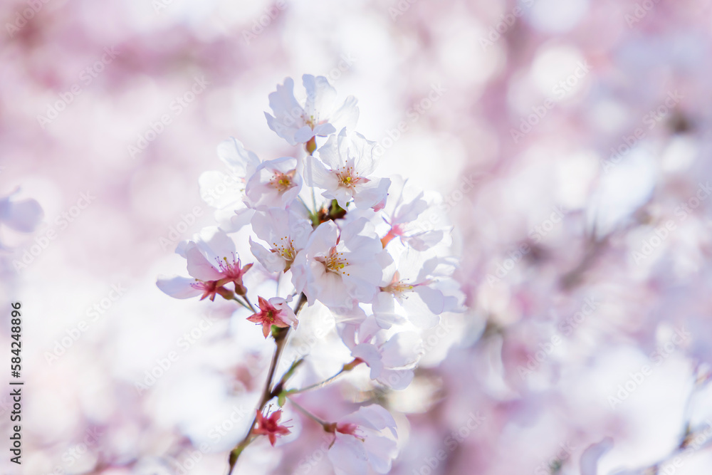
[[[245,194],[256,209],[283,208],[293,201],[302,189],[297,159],[282,157],[268,160],[257,167],[247,182]]]

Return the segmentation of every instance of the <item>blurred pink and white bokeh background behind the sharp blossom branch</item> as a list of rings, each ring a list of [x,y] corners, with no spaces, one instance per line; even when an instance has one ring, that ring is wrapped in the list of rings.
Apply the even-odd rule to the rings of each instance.
[[[469,309],[380,396],[393,474],[710,473],[708,2],[12,0],[0,18],[0,197],[44,210],[33,234],[0,224],[26,379],[23,464],[2,473],[226,471],[268,348],[155,278],[212,223],[198,177],[221,140],[290,153],[262,112],[303,73],[359,99],[379,172],[441,193],[454,225]],[[295,426],[237,473],[333,473]]]

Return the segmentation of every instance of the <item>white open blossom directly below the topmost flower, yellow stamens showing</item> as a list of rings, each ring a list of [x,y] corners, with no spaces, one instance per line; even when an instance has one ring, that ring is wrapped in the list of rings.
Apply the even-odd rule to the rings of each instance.
[[[335,199],[344,209],[351,200],[357,208],[377,206],[387,196],[391,180],[373,176],[374,146],[375,142],[346,129],[331,135],[318,150],[320,160],[307,157],[312,169],[307,183],[325,189],[322,196]]]

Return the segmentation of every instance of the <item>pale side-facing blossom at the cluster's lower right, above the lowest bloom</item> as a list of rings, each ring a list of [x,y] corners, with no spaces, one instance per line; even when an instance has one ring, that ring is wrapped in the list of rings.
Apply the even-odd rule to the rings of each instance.
[[[415,349],[422,343],[417,333],[400,332],[386,339],[371,315],[360,325],[344,325],[340,335],[351,355],[370,368],[372,380],[394,390],[404,390],[413,380],[420,356]]]

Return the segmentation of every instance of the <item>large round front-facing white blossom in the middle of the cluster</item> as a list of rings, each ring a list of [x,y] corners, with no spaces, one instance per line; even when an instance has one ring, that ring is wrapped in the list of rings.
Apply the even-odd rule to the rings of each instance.
[[[333,309],[351,309],[372,301],[389,260],[367,219],[355,219],[343,229],[326,221],[294,260],[295,287],[310,305],[318,300]]]

